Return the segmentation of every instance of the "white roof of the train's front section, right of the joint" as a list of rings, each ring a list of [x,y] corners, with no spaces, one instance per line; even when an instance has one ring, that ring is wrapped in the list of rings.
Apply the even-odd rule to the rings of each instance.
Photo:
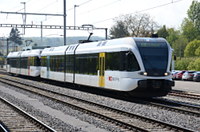
[[[92,43],[80,44],[76,50],[77,54],[82,53],[100,53],[100,52],[116,52],[137,50],[136,42],[166,42],[164,38],[144,38],[144,37],[125,37],[112,40],[105,40]]]

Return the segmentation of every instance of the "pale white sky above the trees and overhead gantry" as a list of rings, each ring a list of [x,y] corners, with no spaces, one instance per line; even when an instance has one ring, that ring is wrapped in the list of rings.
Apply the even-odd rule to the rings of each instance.
[[[27,13],[63,14],[64,0],[0,0],[0,11]],[[200,0],[198,0],[200,1]],[[108,28],[114,25],[113,19],[125,14],[146,13],[159,25],[179,29],[192,0],[66,0],[67,26],[92,24],[97,28]],[[74,14],[74,5],[75,8]],[[63,25],[61,16],[28,15],[26,24]],[[0,24],[23,24],[22,15],[1,14]],[[0,27],[0,37],[8,37],[10,28]],[[22,29],[19,29],[22,33]],[[87,36],[91,31],[67,31],[67,36]],[[95,36],[104,36],[104,30],[93,31]],[[63,30],[43,30],[43,37],[59,37]],[[26,29],[25,35],[41,36],[40,29]]]

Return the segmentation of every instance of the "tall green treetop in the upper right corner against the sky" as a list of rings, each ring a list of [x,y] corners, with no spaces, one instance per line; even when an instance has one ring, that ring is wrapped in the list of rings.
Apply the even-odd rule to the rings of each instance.
[[[194,23],[195,27],[200,31],[200,2],[193,0],[188,10],[188,17]]]

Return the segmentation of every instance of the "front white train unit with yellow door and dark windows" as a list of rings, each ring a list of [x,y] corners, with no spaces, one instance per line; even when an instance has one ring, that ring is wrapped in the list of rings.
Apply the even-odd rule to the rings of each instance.
[[[163,96],[174,85],[171,55],[170,45],[162,38],[128,37],[45,48],[40,77],[139,96]],[[24,52],[23,56],[29,55]],[[21,74],[31,75],[27,73],[21,70]]]

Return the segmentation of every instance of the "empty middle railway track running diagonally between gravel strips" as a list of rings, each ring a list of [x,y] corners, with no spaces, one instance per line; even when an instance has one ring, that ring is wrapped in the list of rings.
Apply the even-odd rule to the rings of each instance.
[[[67,105],[73,109],[79,110],[88,115],[97,117],[108,123],[112,123],[126,131],[192,131],[186,128],[178,127],[173,124],[168,124],[162,121],[149,119],[144,116],[132,114],[115,108],[110,108],[105,105],[89,102],[79,98],[64,95],[54,91],[47,91],[36,86],[30,86],[29,84],[20,84],[10,79],[3,79],[1,82],[7,83],[14,87],[35,93],[37,95],[55,100],[56,102]]]

